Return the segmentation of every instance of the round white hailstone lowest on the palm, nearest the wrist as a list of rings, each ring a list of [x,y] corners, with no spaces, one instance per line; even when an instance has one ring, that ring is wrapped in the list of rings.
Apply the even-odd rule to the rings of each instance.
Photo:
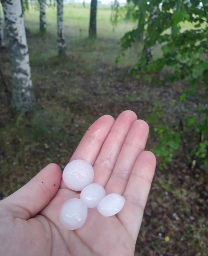
[[[67,200],[59,212],[59,220],[63,227],[74,230],[82,227],[87,218],[87,206],[81,199],[72,198]]]

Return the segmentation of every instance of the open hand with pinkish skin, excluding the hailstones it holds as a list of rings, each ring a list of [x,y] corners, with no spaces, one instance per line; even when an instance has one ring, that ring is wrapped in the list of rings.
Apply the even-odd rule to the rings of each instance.
[[[0,255],[133,256],[155,171],[155,156],[144,151],[148,125],[132,111],[100,117],[86,131],[71,157],[93,165],[93,182],[126,202],[116,216],[89,209],[83,227],[66,230],[62,204],[79,193],[67,189],[62,171],[49,164],[29,183],[0,202]]]

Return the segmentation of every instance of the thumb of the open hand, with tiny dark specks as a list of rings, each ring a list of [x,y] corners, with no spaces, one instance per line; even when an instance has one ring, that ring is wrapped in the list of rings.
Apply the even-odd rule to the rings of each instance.
[[[58,192],[62,171],[49,164],[21,189],[0,202],[14,218],[28,220],[40,212]]]

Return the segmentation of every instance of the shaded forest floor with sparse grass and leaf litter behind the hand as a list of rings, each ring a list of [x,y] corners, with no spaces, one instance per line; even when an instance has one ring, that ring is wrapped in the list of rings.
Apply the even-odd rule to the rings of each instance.
[[[71,38],[65,58],[55,53],[50,32],[41,37],[27,30],[27,40],[38,110],[12,115],[0,78],[0,198],[19,189],[49,162],[63,168],[85,130],[102,115],[116,118],[126,109],[133,110],[150,126],[146,147],[150,150],[158,142],[151,120],[154,106],[165,109],[163,119],[173,127],[196,108],[193,101],[174,106],[183,87],[180,83],[150,86],[132,78],[134,52],[115,66],[117,38]],[[7,50],[0,52],[0,67],[11,90]],[[166,169],[156,168],[135,256],[208,255],[208,173],[199,166],[190,168],[188,134],[186,141],[186,148],[179,148]]]

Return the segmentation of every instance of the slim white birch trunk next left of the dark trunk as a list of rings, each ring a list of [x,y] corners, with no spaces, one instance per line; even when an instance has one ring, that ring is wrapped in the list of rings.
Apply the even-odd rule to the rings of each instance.
[[[57,31],[58,31],[58,55],[66,56],[66,43],[64,35],[64,6],[63,0],[57,0]]]

